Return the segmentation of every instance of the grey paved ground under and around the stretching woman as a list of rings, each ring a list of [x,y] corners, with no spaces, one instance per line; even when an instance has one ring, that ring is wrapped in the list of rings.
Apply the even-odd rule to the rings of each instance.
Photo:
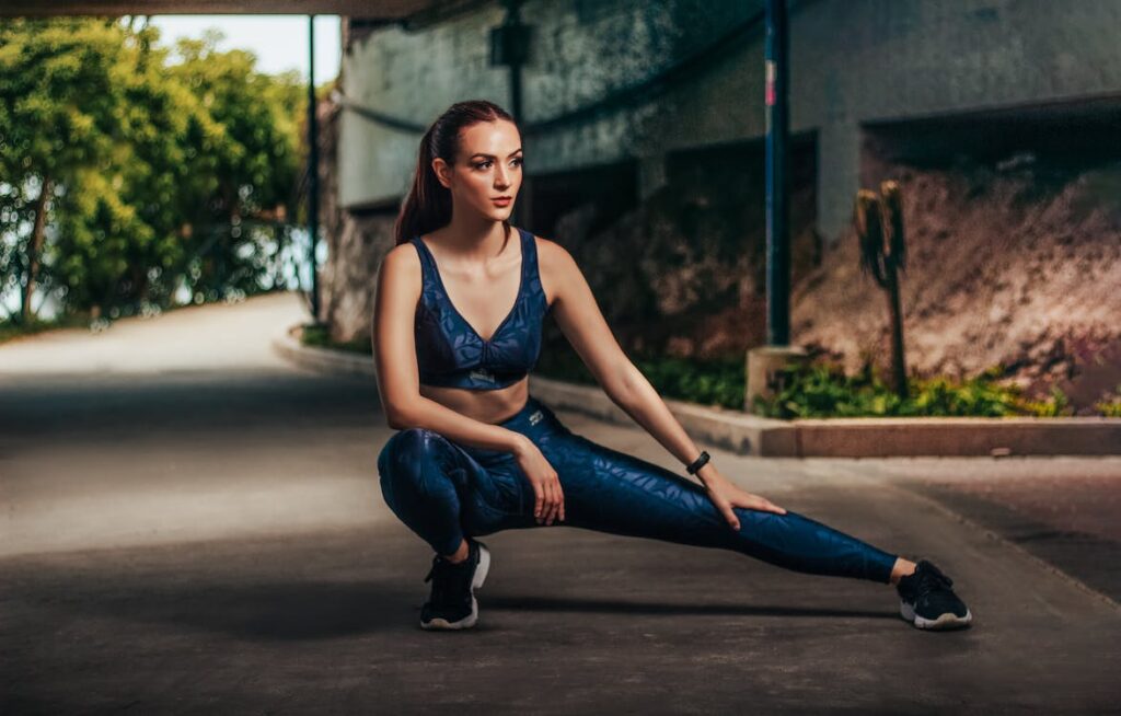
[[[779,504],[936,559],[976,615],[966,631],[910,627],[883,585],[554,527],[490,537],[479,626],[424,632],[430,555],[377,490],[390,431],[373,385],[268,350],[302,316],[275,296],[0,346],[0,713],[1121,703],[1112,583],[1071,576],[1119,556],[1117,458],[713,452]],[[637,428],[558,415],[676,467]],[[1065,556],[1002,537],[1028,523]]]

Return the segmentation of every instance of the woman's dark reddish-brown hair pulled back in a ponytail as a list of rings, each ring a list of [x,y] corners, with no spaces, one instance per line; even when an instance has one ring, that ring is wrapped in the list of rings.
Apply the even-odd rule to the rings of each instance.
[[[452,221],[452,193],[436,178],[432,168],[433,159],[439,157],[448,165],[455,164],[460,151],[460,132],[476,122],[493,122],[503,119],[513,122],[510,114],[487,100],[456,102],[441,114],[420,139],[417,152],[417,168],[401,211],[393,225],[397,244],[406,243],[420,234],[435,231]],[[510,222],[502,222],[506,233],[510,233]]]

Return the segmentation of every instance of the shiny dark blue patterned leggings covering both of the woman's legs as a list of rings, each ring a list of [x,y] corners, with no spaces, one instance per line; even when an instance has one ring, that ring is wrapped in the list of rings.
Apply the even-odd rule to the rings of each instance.
[[[787,510],[733,508],[733,530],[704,487],[665,467],[572,433],[530,397],[500,424],[528,436],[557,471],[565,520],[552,527],[731,549],[787,569],[889,583],[896,555]],[[454,443],[433,430],[398,430],[378,455],[386,503],[442,555],[465,534],[540,528],[532,485],[511,453]]]

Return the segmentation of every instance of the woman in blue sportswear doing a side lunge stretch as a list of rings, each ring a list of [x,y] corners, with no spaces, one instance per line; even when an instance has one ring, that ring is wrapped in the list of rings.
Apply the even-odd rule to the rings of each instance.
[[[398,430],[378,456],[393,513],[436,552],[424,629],[466,629],[490,569],[475,537],[563,526],[733,549],[818,575],[896,585],[921,629],[972,619],[952,580],[744,492],[697,449],[615,342],[559,244],[509,216],[521,137],[491,102],[452,105],[420,141],[382,260],[373,319],[378,387]],[[529,396],[552,314],[611,399],[700,483],[568,430]]]

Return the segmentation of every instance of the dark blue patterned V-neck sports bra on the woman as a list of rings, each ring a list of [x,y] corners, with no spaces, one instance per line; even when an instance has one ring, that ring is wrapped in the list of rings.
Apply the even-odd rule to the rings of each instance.
[[[494,390],[529,373],[541,350],[541,323],[553,308],[541,289],[537,241],[518,227],[521,279],[513,308],[489,341],[456,310],[444,290],[436,260],[420,236],[411,239],[420,254],[421,290],[414,332],[420,383]]]

